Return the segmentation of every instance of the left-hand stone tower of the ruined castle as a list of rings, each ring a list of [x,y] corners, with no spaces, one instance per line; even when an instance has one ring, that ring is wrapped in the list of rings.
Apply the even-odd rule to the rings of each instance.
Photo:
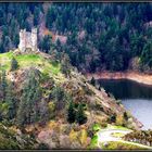
[[[21,29],[20,31],[20,45],[18,45],[18,49],[24,52],[25,48],[26,48],[26,29]]]

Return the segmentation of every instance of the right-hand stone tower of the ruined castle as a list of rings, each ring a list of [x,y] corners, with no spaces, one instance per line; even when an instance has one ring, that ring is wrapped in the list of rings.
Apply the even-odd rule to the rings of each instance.
[[[37,50],[37,28],[31,29],[31,50]]]

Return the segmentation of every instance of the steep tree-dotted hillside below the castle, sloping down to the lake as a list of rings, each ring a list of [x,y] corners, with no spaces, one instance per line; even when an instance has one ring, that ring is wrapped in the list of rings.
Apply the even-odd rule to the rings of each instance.
[[[49,149],[88,148],[94,124],[139,129],[141,124],[103,88],[87,83],[65,54],[61,61],[54,56],[29,50],[0,54],[0,114],[5,126],[15,126]]]

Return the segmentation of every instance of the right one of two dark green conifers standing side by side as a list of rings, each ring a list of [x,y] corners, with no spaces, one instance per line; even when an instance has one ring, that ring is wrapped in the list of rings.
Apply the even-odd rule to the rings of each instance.
[[[80,104],[78,105],[78,111],[77,111],[77,113],[76,113],[76,122],[77,122],[79,125],[81,125],[81,124],[84,124],[84,123],[86,122],[86,119],[87,119],[87,117],[86,117],[85,112],[84,112],[84,106],[83,106],[83,104],[80,103]]]

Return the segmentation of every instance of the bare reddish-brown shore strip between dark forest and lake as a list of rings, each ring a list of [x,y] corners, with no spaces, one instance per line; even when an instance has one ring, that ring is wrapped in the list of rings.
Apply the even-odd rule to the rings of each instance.
[[[94,79],[130,79],[143,85],[152,86],[152,75],[138,72],[101,72],[96,74],[86,74],[88,80]]]

